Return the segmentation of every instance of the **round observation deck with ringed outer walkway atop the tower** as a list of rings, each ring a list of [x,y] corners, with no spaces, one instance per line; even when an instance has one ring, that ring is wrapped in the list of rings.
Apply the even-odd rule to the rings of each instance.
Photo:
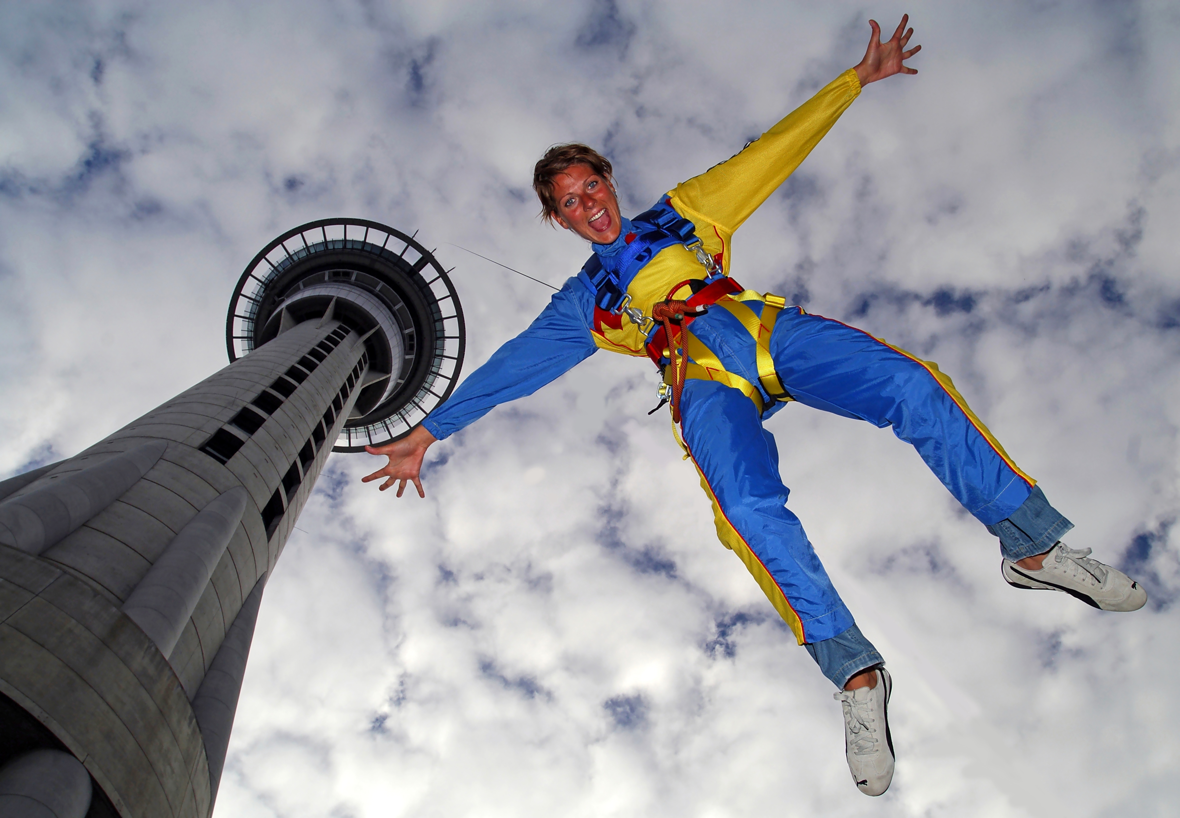
[[[466,349],[463,307],[447,270],[414,236],[360,218],[324,218],[282,234],[234,289],[229,359],[324,319],[363,336],[371,373],[333,451],[405,437],[454,388]]]

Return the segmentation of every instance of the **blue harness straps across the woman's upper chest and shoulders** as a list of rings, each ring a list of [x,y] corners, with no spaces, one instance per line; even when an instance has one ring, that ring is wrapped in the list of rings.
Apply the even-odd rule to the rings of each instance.
[[[632,218],[631,227],[636,236],[621,253],[609,257],[595,253],[578,273],[594,293],[595,305],[608,312],[618,309],[628,286],[657,253],[696,238],[696,225],[676,212],[667,197]]]

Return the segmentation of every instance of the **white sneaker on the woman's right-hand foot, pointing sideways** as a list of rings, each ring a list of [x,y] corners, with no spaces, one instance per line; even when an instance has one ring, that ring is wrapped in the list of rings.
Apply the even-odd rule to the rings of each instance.
[[[1090,559],[1090,549],[1073,549],[1064,543],[1054,545],[1040,571],[1021,568],[1004,559],[1004,582],[1014,588],[1061,590],[1086,604],[1102,610],[1139,610],[1147,602],[1147,591],[1120,570]]]

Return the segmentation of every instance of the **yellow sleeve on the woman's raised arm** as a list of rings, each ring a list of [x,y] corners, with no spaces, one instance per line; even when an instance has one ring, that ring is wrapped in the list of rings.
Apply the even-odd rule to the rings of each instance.
[[[736,156],[670,192],[673,207],[701,227],[733,234],[807,158],[845,109],[860,94],[848,68]]]

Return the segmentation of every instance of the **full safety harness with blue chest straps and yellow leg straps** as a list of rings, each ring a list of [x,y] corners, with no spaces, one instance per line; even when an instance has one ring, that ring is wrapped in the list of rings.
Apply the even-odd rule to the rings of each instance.
[[[615,256],[601,257],[594,254],[582,267],[578,277],[595,294],[595,305],[612,315],[625,314],[635,326],[647,334],[648,356],[660,367],[664,382],[660,386],[660,405],[670,400],[673,423],[680,423],[680,397],[688,378],[720,381],[740,390],[754,401],[759,413],[766,410],[762,392],[745,378],[728,372],[721,360],[691,333],[684,329],[712,306],[721,307],[736,318],[755,341],[758,379],[771,403],[793,400],[782,387],[774,360],[771,358],[771,333],[786,300],[769,293],[758,294],[745,290],[721,269],[720,257],[710,256],[696,235],[696,225],[673,209],[668,197],[631,220],[636,228],[630,240]],[[668,293],[668,299],[653,305],[651,315],[645,316],[637,307],[631,307],[628,286],[656,254],[673,244],[683,244],[694,253],[706,269],[706,277],[682,281]],[[688,286],[693,295],[687,300],[671,296]],[[761,315],[754,313],[743,301],[761,301]],[[689,360],[691,359],[691,360]],[[649,414],[651,413],[649,412]]]

